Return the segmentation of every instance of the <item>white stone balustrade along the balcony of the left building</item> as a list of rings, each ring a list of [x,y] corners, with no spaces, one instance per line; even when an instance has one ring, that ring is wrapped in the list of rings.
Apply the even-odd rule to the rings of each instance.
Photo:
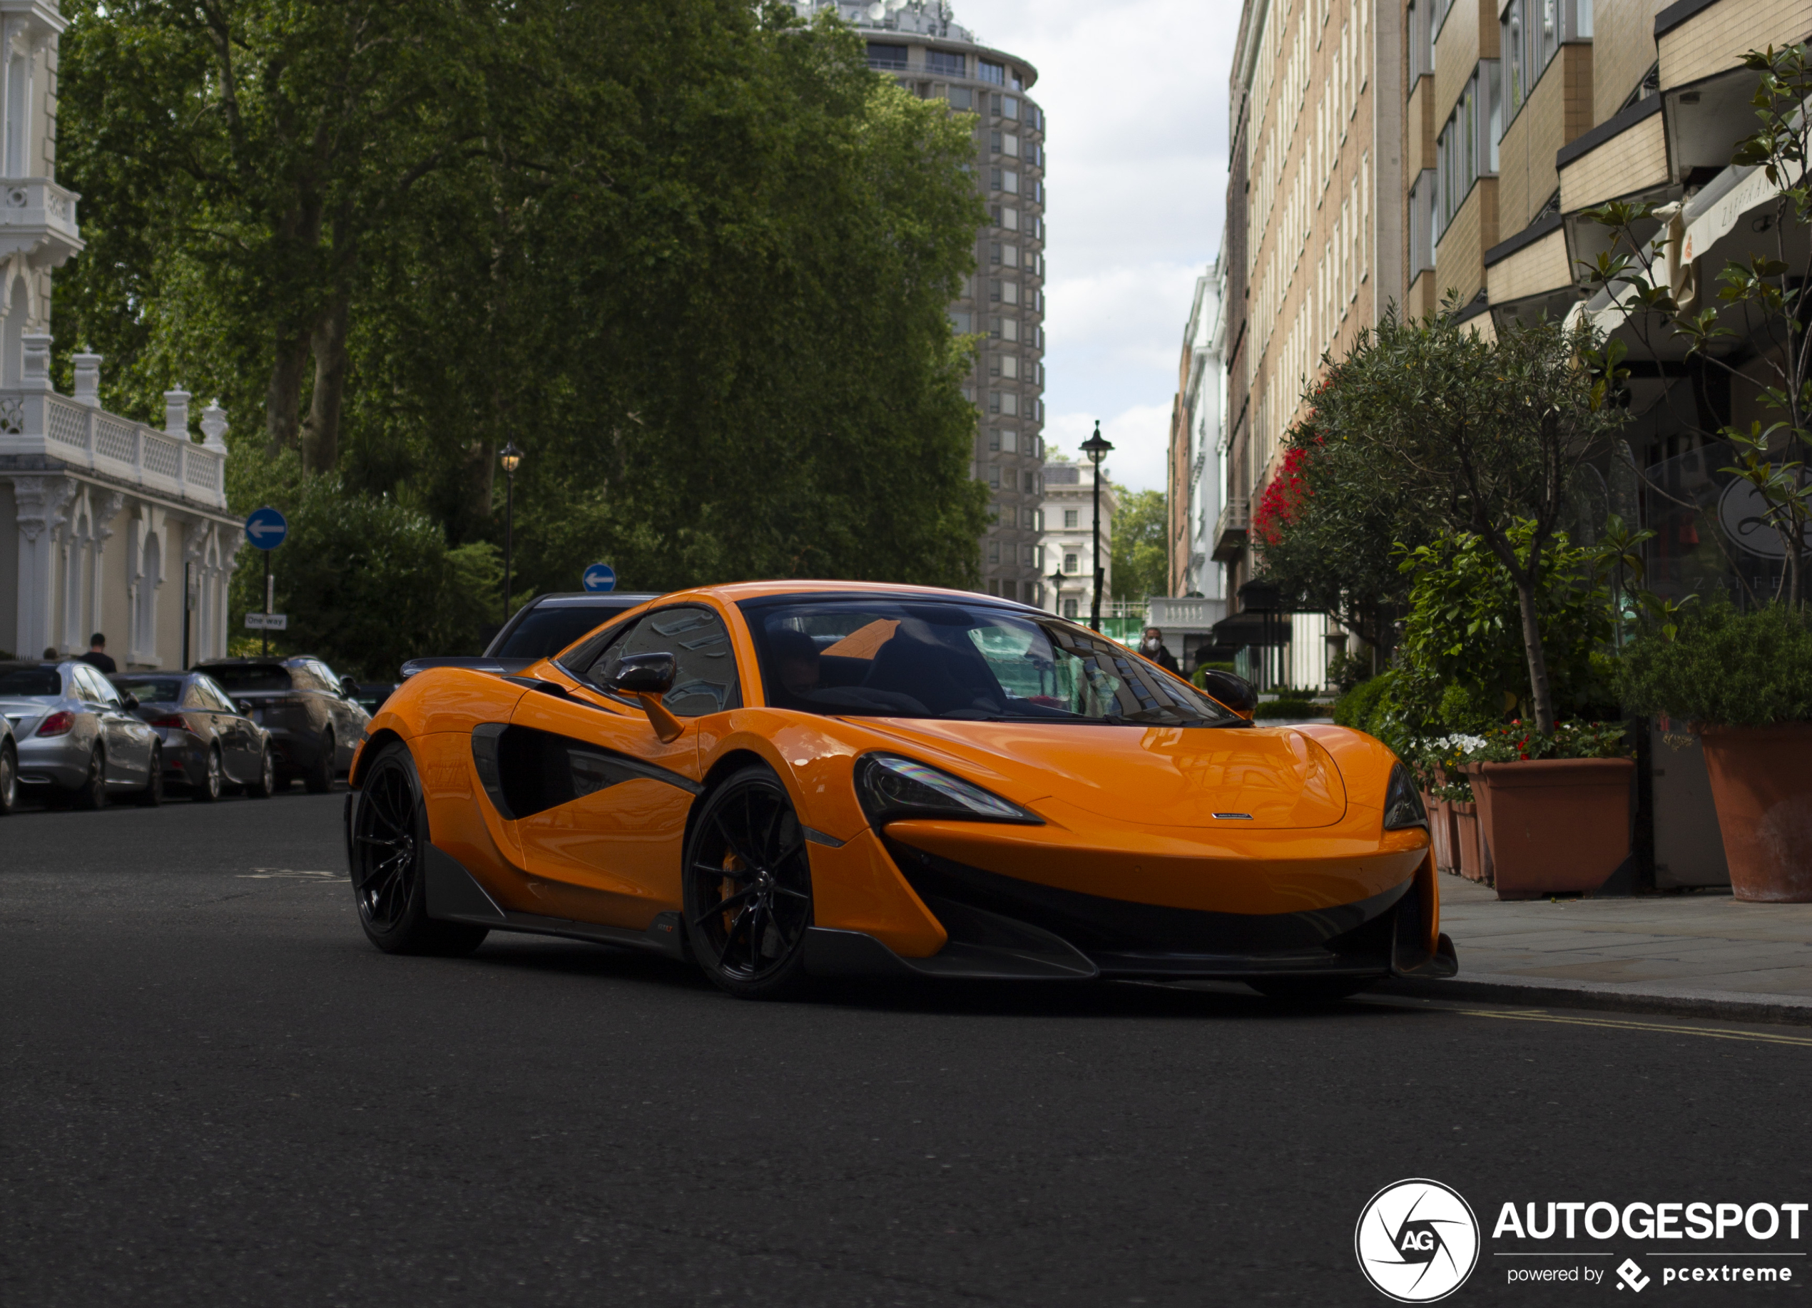
[[[226,449],[201,446],[45,390],[0,391],[0,455],[42,455],[69,467],[226,507]]]

